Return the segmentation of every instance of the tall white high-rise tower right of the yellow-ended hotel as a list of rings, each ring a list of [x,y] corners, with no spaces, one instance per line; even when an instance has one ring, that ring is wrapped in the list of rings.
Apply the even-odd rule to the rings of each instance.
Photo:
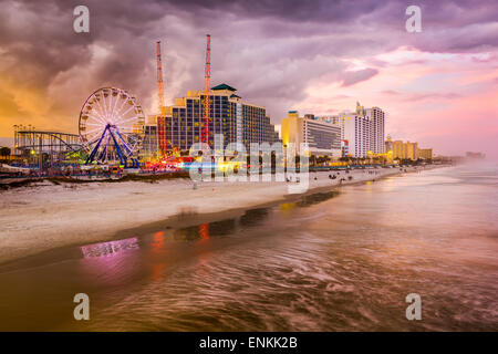
[[[344,156],[366,157],[384,154],[385,113],[380,107],[365,108],[356,102],[355,112],[343,112],[330,117],[341,127]]]

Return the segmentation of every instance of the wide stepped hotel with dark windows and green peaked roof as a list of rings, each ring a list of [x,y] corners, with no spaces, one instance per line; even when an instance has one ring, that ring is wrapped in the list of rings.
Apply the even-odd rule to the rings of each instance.
[[[251,143],[278,142],[279,134],[267,116],[266,108],[242,101],[236,92],[227,84],[217,85],[210,91],[210,146],[214,146],[215,134],[224,135],[225,146],[241,143],[248,150]],[[203,91],[188,91],[185,97],[176,98],[173,106],[166,107],[164,129],[159,122],[157,132],[159,145],[164,145],[164,149],[176,147],[188,150],[194,143],[201,142],[204,98]]]

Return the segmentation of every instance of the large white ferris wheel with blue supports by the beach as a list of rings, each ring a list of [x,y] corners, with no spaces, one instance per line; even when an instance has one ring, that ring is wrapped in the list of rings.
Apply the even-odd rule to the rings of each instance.
[[[80,112],[80,139],[89,157],[86,164],[128,160],[137,167],[136,155],[143,139],[144,112],[134,96],[115,87],[103,87],[86,98]]]

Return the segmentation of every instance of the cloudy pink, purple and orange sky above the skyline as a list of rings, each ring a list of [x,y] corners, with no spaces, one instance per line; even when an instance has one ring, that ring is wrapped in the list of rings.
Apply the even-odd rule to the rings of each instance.
[[[73,9],[90,9],[90,33]],[[422,32],[408,33],[408,6]],[[166,103],[211,83],[238,88],[273,123],[356,101],[387,113],[386,132],[436,154],[498,159],[498,2],[0,0],[0,137],[13,124],[77,133],[80,108],[102,86],[156,112],[155,42]],[[1,142],[0,142],[1,143]]]

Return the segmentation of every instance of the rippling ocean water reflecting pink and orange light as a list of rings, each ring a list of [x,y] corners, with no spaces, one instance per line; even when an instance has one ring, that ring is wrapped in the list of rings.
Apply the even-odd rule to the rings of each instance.
[[[405,174],[4,264],[0,329],[497,331],[497,170]]]

